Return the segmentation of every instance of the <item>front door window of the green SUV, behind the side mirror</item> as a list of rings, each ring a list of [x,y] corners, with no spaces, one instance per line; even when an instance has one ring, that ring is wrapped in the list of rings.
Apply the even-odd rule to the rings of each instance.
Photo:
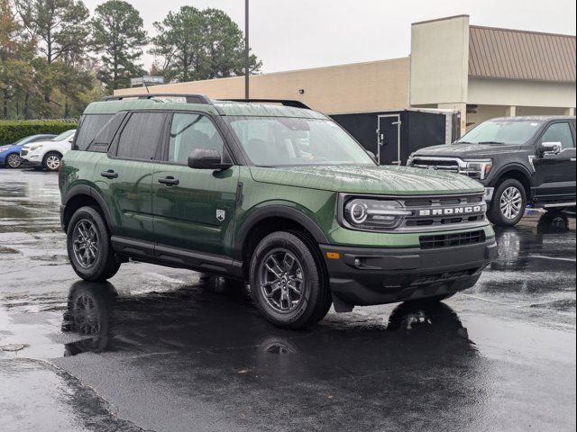
[[[169,162],[187,164],[197,148],[210,148],[223,155],[223,139],[206,115],[176,112],[172,117],[169,140]]]

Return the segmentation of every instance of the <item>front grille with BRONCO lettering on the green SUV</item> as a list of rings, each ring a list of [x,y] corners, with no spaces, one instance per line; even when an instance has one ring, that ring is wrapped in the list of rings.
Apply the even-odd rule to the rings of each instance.
[[[401,228],[458,229],[465,224],[477,225],[485,220],[487,205],[481,193],[462,196],[407,198],[403,206],[412,211]]]

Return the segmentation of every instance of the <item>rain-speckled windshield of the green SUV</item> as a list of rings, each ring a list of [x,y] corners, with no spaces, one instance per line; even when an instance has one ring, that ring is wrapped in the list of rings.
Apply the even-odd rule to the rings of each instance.
[[[224,119],[256,166],[375,165],[334,121],[243,116]]]

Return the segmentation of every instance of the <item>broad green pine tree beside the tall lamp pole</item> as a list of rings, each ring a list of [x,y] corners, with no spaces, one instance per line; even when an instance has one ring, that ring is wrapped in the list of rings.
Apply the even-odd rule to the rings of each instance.
[[[243,32],[223,11],[182,6],[154,27],[158,35],[152,39],[151,54],[162,58],[160,70],[167,81],[243,75]],[[251,73],[261,68],[255,55],[249,68]]]

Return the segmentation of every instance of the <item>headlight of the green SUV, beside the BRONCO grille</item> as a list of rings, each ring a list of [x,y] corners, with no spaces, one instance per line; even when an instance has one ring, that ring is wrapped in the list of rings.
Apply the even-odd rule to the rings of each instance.
[[[344,202],[344,221],[356,229],[395,229],[413,214],[398,201],[353,198]]]

